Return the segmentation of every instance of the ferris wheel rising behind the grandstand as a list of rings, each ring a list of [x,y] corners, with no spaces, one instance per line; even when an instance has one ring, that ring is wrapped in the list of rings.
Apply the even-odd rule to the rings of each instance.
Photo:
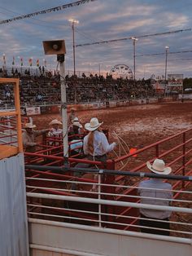
[[[117,64],[113,68],[111,68],[110,74],[113,77],[128,77],[128,79],[133,79],[133,72],[132,69],[129,68],[129,66],[125,64]]]

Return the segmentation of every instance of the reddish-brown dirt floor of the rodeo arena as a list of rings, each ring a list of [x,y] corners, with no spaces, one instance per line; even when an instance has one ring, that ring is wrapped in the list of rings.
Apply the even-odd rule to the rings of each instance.
[[[113,141],[112,133],[120,135],[129,148],[143,148],[182,130],[192,128],[192,102],[174,102],[164,104],[146,104],[120,108],[107,108],[76,113],[81,123],[85,125],[91,117],[103,121],[103,128],[109,129],[109,139]],[[36,116],[33,122],[37,130],[45,129],[52,119],[59,114]]]

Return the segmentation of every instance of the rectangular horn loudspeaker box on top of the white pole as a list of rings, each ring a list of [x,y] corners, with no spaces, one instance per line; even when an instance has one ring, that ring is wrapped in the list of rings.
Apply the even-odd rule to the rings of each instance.
[[[66,54],[64,40],[43,41],[42,43],[46,55]]]

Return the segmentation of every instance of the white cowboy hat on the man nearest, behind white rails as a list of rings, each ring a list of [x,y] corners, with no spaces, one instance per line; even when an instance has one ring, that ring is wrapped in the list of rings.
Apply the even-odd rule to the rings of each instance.
[[[155,174],[170,174],[172,171],[171,167],[165,166],[164,160],[162,159],[155,159],[152,165],[149,161],[147,161],[146,166]]]

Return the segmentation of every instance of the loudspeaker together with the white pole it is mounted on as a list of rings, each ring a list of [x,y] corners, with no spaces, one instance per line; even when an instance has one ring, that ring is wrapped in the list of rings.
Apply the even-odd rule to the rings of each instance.
[[[61,113],[63,122],[63,157],[68,158],[68,114],[67,97],[65,84],[64,56],[66,54],[64,40],[43,41],[43,48],[46,55],[57,55],[57,61],[60,64],[60,82],[61,82]]]

